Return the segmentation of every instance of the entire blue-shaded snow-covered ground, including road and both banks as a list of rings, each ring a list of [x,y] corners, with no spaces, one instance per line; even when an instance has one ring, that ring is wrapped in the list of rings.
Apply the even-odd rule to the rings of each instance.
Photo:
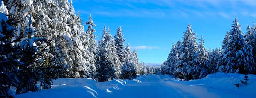
[[[210,74],[204,79],[180,81],[171,75],[139,75],[134,80],[97,82],[59,78],[52,89],[16,95],[17,98],[255,98],[256,75]],[[239,89],[233,85],[239,83]]]

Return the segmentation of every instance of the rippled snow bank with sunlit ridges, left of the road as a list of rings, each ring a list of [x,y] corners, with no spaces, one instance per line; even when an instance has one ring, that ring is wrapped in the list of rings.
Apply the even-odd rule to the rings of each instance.
[[[111,80],[98,82],[90,78],[58,78],[53,80],[52,89],[41,92],[29,92],[16,95],[17,98],[101,98],[102,93],[111,92],[109,89],[119,89],[127,84],[139,83],[134,80]],[[40,85],[40,84],[38,84]],[[15,93],[13,91],[13,93]]]

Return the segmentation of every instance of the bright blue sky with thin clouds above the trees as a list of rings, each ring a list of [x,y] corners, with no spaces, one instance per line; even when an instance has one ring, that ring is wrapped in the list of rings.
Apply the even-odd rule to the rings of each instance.
[[[198,39],[203,35],[208,50],[221,47],[236,17],[243,32],[256,19],[255,0],[73,0],[73,6],[83,23],[92,14],[97,40],[105,25],[111,35],[122,26],[125,45],[137,49],[139,61],[145,63],[165,61],[172,42],[182,40],[189,23]]]

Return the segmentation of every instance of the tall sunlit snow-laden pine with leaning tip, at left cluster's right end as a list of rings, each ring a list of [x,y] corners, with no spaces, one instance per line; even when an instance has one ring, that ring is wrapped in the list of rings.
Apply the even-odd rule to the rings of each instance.
[[[73,41],[72,47],[69,51],[72,62],[72,70],[70,70],[70,77],[75,78],[90,78],[90,74],[96,72],[96,68],[90,66],[88,39],[84,32],[84,26],[81,24],[79,12],[74,14],[74,8],[70,4],[70,11],[67,13],[70,17],[67,19],[67,24],[70,27],[71,40]]]

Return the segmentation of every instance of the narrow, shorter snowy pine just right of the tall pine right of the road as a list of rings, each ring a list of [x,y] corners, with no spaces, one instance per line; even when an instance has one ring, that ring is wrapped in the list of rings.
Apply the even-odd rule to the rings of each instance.
[[[196,54],[196,65],[192,66],[192,69],[190,70],[194,79],[201,79],[208,75],[209,58],[207,50],[204,47],[203,36],[201,36],[198,49],[199,51]]]

